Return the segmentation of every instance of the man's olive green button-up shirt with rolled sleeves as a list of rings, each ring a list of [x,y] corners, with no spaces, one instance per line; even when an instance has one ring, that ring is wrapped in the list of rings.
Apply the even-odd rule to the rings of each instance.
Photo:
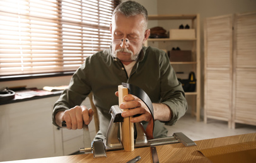
[[[164,103],[172,111],[172,119],[168,122],[155,121],[154,138],[166,137],[166,125],[174,125],[187,110],[187,101],[181,83],[170,65],[164,51],[151,46],[143,47],[131,75],[127,76],[124,65],[118,58],[113,58],[111,48],[100,51],[86,58],[85,63],[76,70],[69,87],[64,90],[54,105],[52,122],[55,114],[81,105],[81,102],[92,91],[95,106],[100,120],[100,131],[96,139],[103,139],[107,133],[112,105],[118,105],[115,96],[118,85],[131,83],[144,90],[152,103]],[[143,122],[146,129],[147,122]]]

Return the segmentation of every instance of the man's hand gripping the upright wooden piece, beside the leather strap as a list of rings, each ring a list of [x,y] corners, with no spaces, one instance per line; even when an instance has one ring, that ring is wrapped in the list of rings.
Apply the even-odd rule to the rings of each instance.
[[[118,97],[118,92],[115,92],[115,95]],[[152,116],[149,112],[148,107],[146,104],[138,97],[134,95],[126,95],[124,97],[125,102],[120,104],[120,108],[122,109],[128,109],[122,112],[122,117],[130,117],[133,115],[141,114],[138,117],[130,117],[131,122],[141,122],[141,121],[149,121],[151,120]]]

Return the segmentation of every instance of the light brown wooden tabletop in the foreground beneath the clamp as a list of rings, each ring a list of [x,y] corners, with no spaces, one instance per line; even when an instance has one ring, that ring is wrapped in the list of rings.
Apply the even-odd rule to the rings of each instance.
[[[256,133],[235,135],[195,141],[197,146],[185,147],[181,143],[159,145],[156,147],[160,162],[211,162],[197,150],[220,147],[223,145],[238,144],[256,140]],[[132,152],[124,150],[109,151],[107,157],[93,158],[93,154],[67,155],[60,157],[47,157],[41,159],[16,160],[11,162],[127,162],[137,155],[141,156],[139,162],[153,162],[150,147],[134,149]]]

